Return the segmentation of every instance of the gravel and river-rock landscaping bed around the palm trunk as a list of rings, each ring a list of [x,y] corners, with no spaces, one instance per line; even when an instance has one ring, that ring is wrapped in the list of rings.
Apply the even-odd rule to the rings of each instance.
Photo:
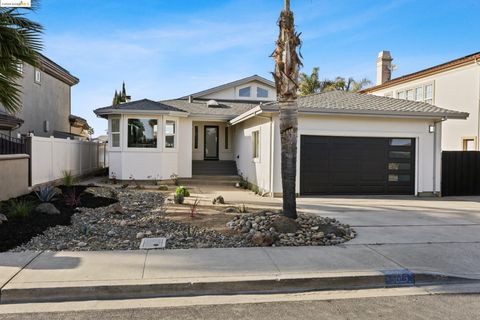
[[[231,219],[225,226],[225,206],[218,206],[225,226],[225,231],[218,231],[202,226],[201,214],[190,218],[188,205],[184,205],[184,219],[169,219],[166,193],[108,187],[86,191],[119,202],[108,207],[77,208],[71,225],[51,227],[12,251],[137,250],[144,237],[166,237],[167,249],[335,245],[356,235],[352,228],[335,219],[300,215],[293,221],[266,210],[228,213]],[[201,206],[198,211],[202,212]]]

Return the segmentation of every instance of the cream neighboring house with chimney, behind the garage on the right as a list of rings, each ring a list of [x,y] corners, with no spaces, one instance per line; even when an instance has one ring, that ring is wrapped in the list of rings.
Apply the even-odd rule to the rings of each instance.
[[[443,124],[442,150],[480,150],[480,52],[395,79],[392,60],[390,52],[379,53],[376,86],[362,92],[467,112],[466,121]]]

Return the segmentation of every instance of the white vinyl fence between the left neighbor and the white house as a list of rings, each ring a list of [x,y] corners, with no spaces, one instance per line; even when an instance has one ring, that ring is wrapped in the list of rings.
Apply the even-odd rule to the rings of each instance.
[[[105,143],[54,137],[31,139],[32,186],[61,179],[64,171],[79,176],[108,163]]]

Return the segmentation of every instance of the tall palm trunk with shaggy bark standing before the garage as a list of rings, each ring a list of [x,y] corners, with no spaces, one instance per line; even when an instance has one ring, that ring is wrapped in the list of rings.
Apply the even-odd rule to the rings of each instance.
[[[275,60],[275,86],[280,109],[280,141],[282,146],[282,191],[283,214],[297,218],[295,182],[297,175],[297,130],[298,130],[298,72],[302,65],[297,48],[300,46],[299,34],[295,32],[293,12],[290,0],[278,20],[280,33],[272,54]]]

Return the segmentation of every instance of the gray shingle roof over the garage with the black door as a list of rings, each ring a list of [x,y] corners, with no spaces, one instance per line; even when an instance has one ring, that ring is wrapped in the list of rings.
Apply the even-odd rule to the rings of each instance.
[[[397,116],[432,116],[465,119],[468,113],[440,108],[428,103],[379,97],[345,91],[311,94],[298,99],[300,112],[379,114]],[[276,104],[268,103],[262,110],[276,111]]]

